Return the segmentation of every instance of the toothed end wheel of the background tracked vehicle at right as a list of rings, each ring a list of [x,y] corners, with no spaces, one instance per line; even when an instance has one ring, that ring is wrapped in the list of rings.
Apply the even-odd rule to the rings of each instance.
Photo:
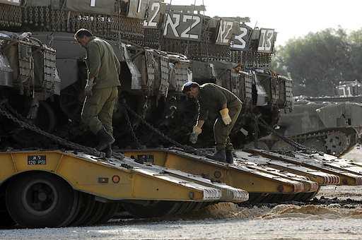
[[[347,150],[348,146],[349,138],[342,132],[333,131],[328,133],[325,138],[325,151],[327,154],[338,157]]]

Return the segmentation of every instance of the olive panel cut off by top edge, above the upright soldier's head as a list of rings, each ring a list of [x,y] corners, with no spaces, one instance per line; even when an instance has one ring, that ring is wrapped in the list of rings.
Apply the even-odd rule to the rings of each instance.
[[[115,12],[114,0],[66,1],[66,11],[112,15]]]

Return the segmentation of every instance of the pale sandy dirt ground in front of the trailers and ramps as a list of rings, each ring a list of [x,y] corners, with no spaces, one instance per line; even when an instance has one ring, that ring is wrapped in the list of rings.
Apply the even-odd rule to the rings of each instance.
[[[345,158],[361,161],[362,149]],[[360,160],[361,158],[361,160]],[[104,226],[6,229],[0,239],[362,239],[362,186],[328,186],[308,204],[219,203],[177,218],[115,220]]]

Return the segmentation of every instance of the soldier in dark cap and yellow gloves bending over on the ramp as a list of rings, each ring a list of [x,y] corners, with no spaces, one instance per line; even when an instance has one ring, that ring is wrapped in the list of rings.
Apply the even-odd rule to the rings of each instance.
[[[221,162],[233,163],[233,145],[230,143],[229,134],[238,119],[242,102],[233,92],[214,83],[199,85],[187,82],[182,86],[182,92],[187,97],[192,97],[199,102],[199,116],[197,124],[192,129],[190,141],[197,142],[197,136],[202,133],[202,126],[209,113],[216,113],[218,118],[214,123],[214,138],[216,149],[211,158]],[[216,115],[215,114],[215,115]]]

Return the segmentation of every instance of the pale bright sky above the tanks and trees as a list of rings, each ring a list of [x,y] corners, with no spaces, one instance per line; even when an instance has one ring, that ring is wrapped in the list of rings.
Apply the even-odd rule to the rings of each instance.
[[[250,27],[274,28],[276,44],[325,28],[362,28],[361,0],[166,0],[173,5],[206,6],[207,16],[250,17]]]

